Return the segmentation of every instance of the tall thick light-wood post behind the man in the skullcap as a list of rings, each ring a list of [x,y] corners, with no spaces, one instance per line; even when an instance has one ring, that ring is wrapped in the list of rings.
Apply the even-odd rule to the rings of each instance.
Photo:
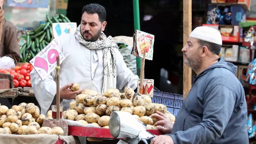
[[[183,45],[187,44],[187,39],[191,33],[191,5],[192,0],[183,0]],[[184,63],[185,57],[183,56],[183,100],[185,100],[191,88],[191,68]]]

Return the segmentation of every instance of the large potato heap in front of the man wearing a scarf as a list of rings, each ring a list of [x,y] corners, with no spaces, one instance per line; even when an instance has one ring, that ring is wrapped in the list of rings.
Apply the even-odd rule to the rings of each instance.
[[[175,121],[175,116],[167,111],[165,105],[152,103],[149,96],[135,93],[130,87],[126,87],[124,93],[111,88],[104,94],[92,89],[84,89],[76,96],[75,101],[70,102],[70,109],[63,112],[63,118],[76,120],[84,125],[93,124],[109,128],[110,115],[114,111],[131,113],[145,123],[147,129],[157,129],[154,124],[158,119],[152,117],[156,111],[165,114],[172,122]]]

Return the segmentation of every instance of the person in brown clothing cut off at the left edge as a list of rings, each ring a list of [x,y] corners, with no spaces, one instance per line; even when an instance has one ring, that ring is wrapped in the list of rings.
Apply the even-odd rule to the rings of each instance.
[[[0,0],[0,57],[8,56],[15,65],[20,60],[16,27],[4,18],[4,0]]]

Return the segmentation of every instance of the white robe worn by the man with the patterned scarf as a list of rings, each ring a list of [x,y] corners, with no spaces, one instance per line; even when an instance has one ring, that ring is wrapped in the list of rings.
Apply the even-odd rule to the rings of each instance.
[[[76,38],[74,33],[61,35],[54,39],[63,55],[65,60],[60,64],[60,87],[68,83],[79,83],[80,88],[91,88],[97,92],[102,92],[103,87],[103,52],[97,51],[98,62],[92,63],[90,49],[82,45]],[[134,75],[132,71],[126,67],[122,55],[117,48],[114,49],[116,54],[116,88],[120,92],[124,92],[125,87],[137,88],[137,80],[139,77]],[[91,65],[96,66],[93,72]],[[94,77],[91,77],[94,73]],[[56,94],[55,83],[56,72],[53,71],[42,80],[35,70],[30,73],[31,84],[41,107],[41,114],[46,114],[47,110],[52,104],[53,98]],[[105,91],[103,91],[105,92]],[[72,100],[63,100],[63,111],[69,108],[69,103]]]

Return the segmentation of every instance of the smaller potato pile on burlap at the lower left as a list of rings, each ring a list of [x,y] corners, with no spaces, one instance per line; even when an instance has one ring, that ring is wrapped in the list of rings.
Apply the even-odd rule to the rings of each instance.
[[[42,127],[43,119],[53,119],[40,115],[38,106],[33,103],[13,105],[12,109],[0,104],[0,133],[3,134],[57,134],[63,135],[60,127]]]

